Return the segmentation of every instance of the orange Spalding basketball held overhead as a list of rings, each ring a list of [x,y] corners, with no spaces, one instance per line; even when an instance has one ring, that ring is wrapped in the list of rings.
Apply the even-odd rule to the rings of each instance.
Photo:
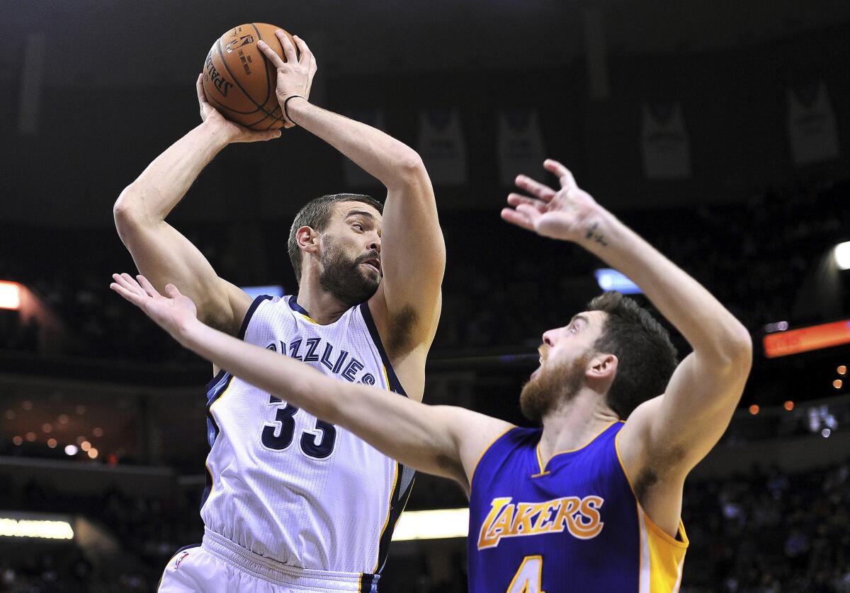
[[[285,123],[275,96],[277,71],[257,47],[262,39],[286,61],[275,36],[278,29],[266,23],[235,26],[212,44],[204,62],[207,101],[230,121],[252,130],[273,130]],[[292,35],[286,32],[286,37],[295,46]]]

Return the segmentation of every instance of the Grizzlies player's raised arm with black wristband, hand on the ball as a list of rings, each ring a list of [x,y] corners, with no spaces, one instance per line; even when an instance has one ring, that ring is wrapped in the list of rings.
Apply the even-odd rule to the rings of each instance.
[[[445,270],[445,243],[428,172],[406,144],[310,104],[302,96],[299,76],[315,71],[313,54],[295,37],[298,60],[289,39],[282,33],[278,37],[286,62],[264,42],[258,46],[278,68],[277,96],[286,118],[331,144],[388,190],[381,235],[383,279],[370,305],[391,358],[404,359],[411,352],[424,357],[439,320]]]

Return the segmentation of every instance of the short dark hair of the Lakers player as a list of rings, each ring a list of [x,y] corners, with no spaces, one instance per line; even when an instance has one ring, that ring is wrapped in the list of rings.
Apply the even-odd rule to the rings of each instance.
[[[587,303],[587,310],[608,313],[593,347],[617,357],[608,406],[626,420],[638,405],[664,393],[676,370],[676,347],[649,311],[619,292],[604,292]]]

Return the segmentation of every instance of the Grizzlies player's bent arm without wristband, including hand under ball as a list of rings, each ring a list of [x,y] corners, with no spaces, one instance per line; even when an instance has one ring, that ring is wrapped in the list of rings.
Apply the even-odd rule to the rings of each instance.
[[[178,282],[198,303],[201,319],[235,334],[251,298],[218,278],[207,258],[166,217],[201,170],[227,144],[278,138],[280,132],[253,132],[227,121],[207,103],[197,81],[201,125],[172,144],[128,185],[113,208],[118,234],[139,271],[154,285]]]

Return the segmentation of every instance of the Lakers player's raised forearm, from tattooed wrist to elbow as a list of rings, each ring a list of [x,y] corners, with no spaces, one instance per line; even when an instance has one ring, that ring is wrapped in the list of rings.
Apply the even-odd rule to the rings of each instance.
[[[609,212],[587,223],[581,246],[634,281],[688,340],[717,364],[749,364],[749,332],[705,287]]]

